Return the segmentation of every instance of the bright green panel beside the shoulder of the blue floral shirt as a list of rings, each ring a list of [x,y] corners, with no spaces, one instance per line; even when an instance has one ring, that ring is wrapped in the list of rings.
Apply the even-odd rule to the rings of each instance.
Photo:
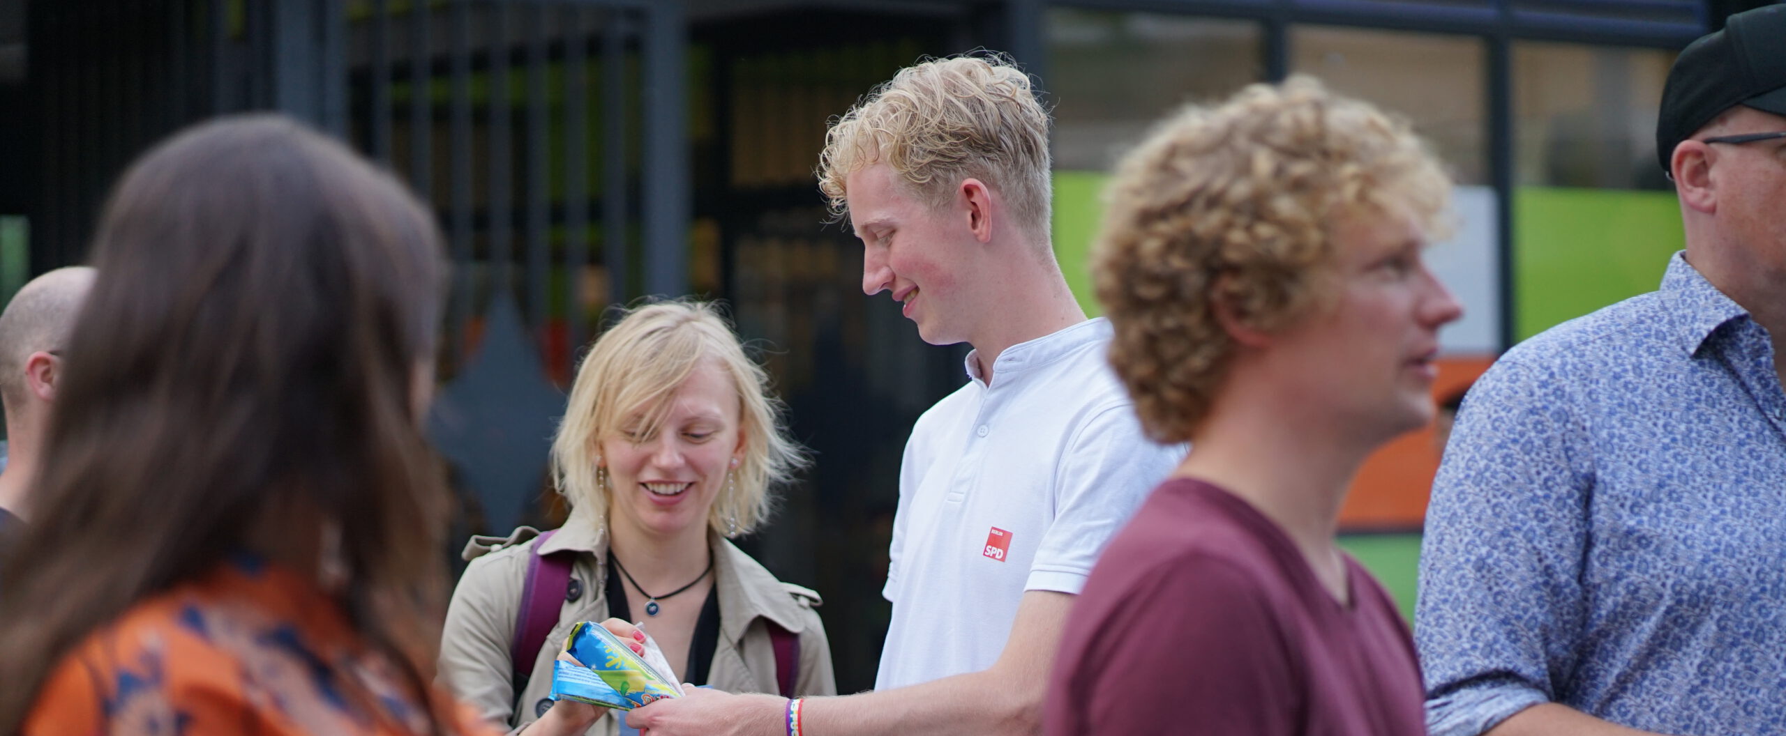
[[[1672,191],[1529,186],[1513,207],[1515,339],[1656,291],[1682,243]]]

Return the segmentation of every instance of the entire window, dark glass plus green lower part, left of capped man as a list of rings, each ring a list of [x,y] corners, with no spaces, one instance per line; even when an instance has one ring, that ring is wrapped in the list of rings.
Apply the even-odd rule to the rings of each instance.
[[[1681,205],[1656,163],[1673,52],[1513,46],[1513,314],[1523,339],[1654,291],[1681,250]]]

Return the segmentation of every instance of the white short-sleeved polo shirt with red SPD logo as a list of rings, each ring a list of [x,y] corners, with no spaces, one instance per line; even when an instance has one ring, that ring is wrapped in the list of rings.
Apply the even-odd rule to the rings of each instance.
[[[893,520],[877,690],[986,670],[1023,591],[1079,593],[1104,543],[1184,457],[1141,434],[1109,322],[1013,345],[918,418]]]

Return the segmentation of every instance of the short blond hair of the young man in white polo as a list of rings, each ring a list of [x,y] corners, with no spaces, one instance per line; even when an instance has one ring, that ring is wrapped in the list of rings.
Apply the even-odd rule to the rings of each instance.
[[[816,171],[836,220],[850,214],[850,173],[882,161],[931,207],[947,204],[963,179],[979,179],[1027,236],[1048,241],[1048,111],[1029,75],[1002,55],[907,66],[843,113],[825,132]]]

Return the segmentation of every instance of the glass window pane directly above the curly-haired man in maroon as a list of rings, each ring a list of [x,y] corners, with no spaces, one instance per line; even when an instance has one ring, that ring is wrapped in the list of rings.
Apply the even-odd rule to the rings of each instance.
[[[1107,171],[1173,107],[1264,79],[1259,23],[1052,9],[1054,168]]]

